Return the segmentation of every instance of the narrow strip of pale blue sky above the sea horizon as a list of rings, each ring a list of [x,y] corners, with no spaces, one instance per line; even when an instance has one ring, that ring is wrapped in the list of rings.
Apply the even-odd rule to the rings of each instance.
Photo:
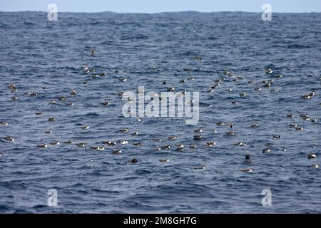
[[[0,11],[48,11],[56,4],[61,12],[158,13],[168,11],[321,12],[321,0],[0,0]]]

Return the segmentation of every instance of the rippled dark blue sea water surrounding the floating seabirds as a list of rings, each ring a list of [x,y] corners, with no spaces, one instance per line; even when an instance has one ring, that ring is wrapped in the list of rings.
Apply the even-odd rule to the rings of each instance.
[[[0,12],[0,120],[9,123],[0,125],[0,212],[320,213],[320,169],[309,167],[320,164],[320,29],[321,14],[272,14],[272,21],[262,21],[260,14],[242,12],[58,13],[58,21],[50,22],[45,12]],[[107,75],[91,78],[83,66]],[[190,77],[195,80],[180,83]],[[219,78],[220,86],[207,93]],[[274,83],[264,88],[262,81],[270,79]],[[16,84],[16,93],[9,83]],[[138,86],[156,93],[168,86],[199,92],[198,125],[185,125],[184,118],[123,117],[117,92]],[[69,94],[73,89],[76,96]],[[240,98],[243,91],[247,96]],[[313,98],[300,98],[312,91]],[[11,100],[14,95],[18,100]],[[61,95],[67,99],[48,105]],[[111,105],[101,105],[105,100]],[[289,113],[295,118],[287,118]],[[302,113],[317,123],[302,120]],[[49,122],[53,116],[56,121]],[[256,122],[259,127],[250,128]],[[195,141],[198,127],[205,130]],[[230,130],[236,135],[226,136]],[[171,135],[177,140],[168,140]],[[128,140],[116,145],[121,155],[109,146],[91,150],[103,140],[121,139]],[[54,140],[87,146],[50,145]],[[210,141],[216,145],[205,147]],[[240,141],[247,145],[234,145]],[[272,152],[265,154],[269,142]],[[49,147],[37,147],[43,143]],[[178,143],[185,150],[175,150]],[[155,150],[162,145],[173,148]],[[317,158],[308,160],[310,152]],[[247,153],[252,165],[243,163]],[[134,157],[138,163],[128,163]],[[201,165],[205,170],[194,169]],[[250,167],[251,173],[240,171]],[[47,205],[51,189],[58,192],[58,207]],[[265,189],[272,192],[271,207],[261,203]]]

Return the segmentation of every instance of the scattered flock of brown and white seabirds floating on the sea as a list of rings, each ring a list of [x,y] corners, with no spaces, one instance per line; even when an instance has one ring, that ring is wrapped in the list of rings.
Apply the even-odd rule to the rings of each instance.
[[[96,49],[92,49],[91,50],[91,56],[94,56],[96,52]],[[196,56],[195,57],[196,60],[198,61],[201,61],[202,58],[200,56]],[[190,68],[183,68],[183,71],[190,71]],[[275,78],[282,78],[282,75],[280,74],[274,74],[272,69],[270,68],[267,68],[267,69],[264,69],[265,73],[268,74],[268,75],[271,75],[271,76],[274,76]],[[129,72],[129,70],[128,70]],[[96,73],[96,70],[93,69],[93,68],[89,68],[89,67],[83,67],[83,73],[86,73],[86,74],[89,74],[91,75],[92,78],[99,78],[99,77],[104,77],[107,75],[106,72],[103,72],[103,73]],[[118,73],[118,71],[116,71],[116,73]],[[228,70],[225,70],[223,71],[223,75],[226,76],[226,77],[231,77],[231,78],[234,78],[233,81],[237,82],[238,80],[240,79],[243,79],[242,77],[236,75],[235,73],[232,73]],[[187,80],[193,80],[194,78],[191,77],[191,78],[187,78]],[[220,86],[221,83],[223,83],[223,81],[225,80],[225,78],[219,78],[218,80],[215,81],[214,85],[210,87],[210,90],[207,90],[208,93],[213,93],[215,88],[218,88],[218,86]],[[126,78],[121,78],[120,79],[120,82],[124,83],[126,82]],[[186,80],[182,80],[181,81],[182,83],[185,83]],[[84,81],[83,84],[86,84],[88,83],[88,81]],[[256,82],[254,80],[250,80],[248,81],[249,84],[255,84]],[[273,83],[275,83],[275,80],[274,79],[270,79],[270,80],[265,80],[265,81],[261,81],[260,82],[262,85],[263,85],[263,88],[270,88],[270,86],[272,86]],[[162,83],[163,85],[166,85],[167,82],[166,81],[163,81]],[[16,85],[14,83],[9,83],[8,85],[8,88],[11,90],[11,93],[16,93],[17,92],[17,88],[16,88]],[[262,90],[263,88],[261,87],[255,87],[254,90]],[[46,90],[47,87],[44,86],[42,88],[43,90]],[[173,91],[175,90],[175,87],[168,87],[167,88],[168,91]],[[232,91],[232,88],[227,88],[226,89],[227,91]],[[275,90],[275,89],[271,89],[270,90]],[[71,90],[70,92],[70,95],[72,96],[75,96],[77,95],[77,91],[76,90]],[[122,97],[122,95],[124,94],[124,91],[119,91],[118,92],[118,95],[120,97]],[[182,93],[184,95],[184,93]],[[29,95],[29,96],[37,96],[38,94],[37,93],[34,93],[34,92],[29,92],[29,93],[26,93],[25,95]],[[246,92],[242,92],[242,93],[239,93],[240,97],[242,98],[245,98],[248,96],[248,94]],[[307,93],[307,94],[303,94],[301,95],[301,98],[302,99],[311,99],[313,98],[313,96],[315,96],[315,92],[312,91],[311,93]],[[130,98],[128,98],[129,100]],[[19,98],[14,95],[11,97],[11,100],[19,100]],[[64,96],[64,95],[61,95],[60,97],[56,98],[55,100],[52,100],[50,103],[48,103],[48,105],[54,105],[54,104],[57,104],[58,102],[61,102],[63,100],[67,100],[67,97]],[[237,101],[236,100],[233,100],[232,101],[232,104],[236,104]],[[68,103],[68,105],[73,105],[73,103]],[[104,101],[103,103],[101,103],[101,105],[103,106],[108,106],[108,105],[111,105],[110,102],[108,101]],[[36,110],[35,111],[35,115],[42,115],[43,114],[43,111],[42,110]],[[285,116],[285,118],[295,118],[295,115],[293,115],[292,113],[289,113]],[[310,116],[308,114],[300,114],[300,118],[302,118],[302,120],[306,120],[306,121],[311,121],[312,123],[315,123],[317,120],[315,118],[310,118]],[[49,119],[49,122],[54,122],[56,121],[56,117],[55,116],[52,116],[50,117]],[[138,118],[137,121],[141,121],[141,118]],[[10,123],[7,122],[6,120],[2,120],[0,122],[0,125],[1,126],[6,126],[6,125],[9,125]],[[233,126],[235,125],[234,123],[224,123],[222,121],[218,122],[216,125],[218,126],[226,126],[228,127],[228,129],[230,129],[229,131],[226,132],[226,135],[227,136],[233,136],[235,135],[236,133],[232,130],[233,129]],[[260,123],[253,123],[253,125],[250,125],[249,126],[250,128],[260,128]],[[297,125],[297,124],[290,124],[289,126],[290,128],[294,128],[295,130],[302,130],[302,126],[300,125]],[[90,126],[88,125],[83,125],[81,126],[81,128],[83,130],[88,130],[90,128]],[[129,128],[123,128],[123,129],[120,129],[119,130],[121,133],[124,133],[124,134],[131,134],[132,136],[136,136],[138,135],[138,131],[133,131],[131,132],[131,130]],[[198,142],[200,140],[203,140],[202,138],[202,133],[205,131],[205,127],[199,127],[199,128],[195,128],[194,129],[194,135],[193,135],[193,140],[194,142],[191,143],[190,145],[188,145],[188,147],[190,149],[196,149],[198,148],[198,146],[200,145]],[[214,132],[216,132],[216,130],[214,130]],[[51,133],[51,130],[46,130],[46,133],[47,134],[50,134]],[[278,140],[281,138],[281,135],[272,135],[272,138],[274,138],[275,140]],[[167,140],[168,142],[171,142],[171,141],[175,141],[177,140],[178,138],[175,136],[175,135],[170,135],[168,136]],[[6,136],[4,137],[4,140],[7,141],[7,142],[14,142],[14,137],[13,136]],[[161,138],[153,138],[151,139],[153,142],[159,142],[160,144],[163,142],[163,139]],[[75,142],[73,140],[67,140],[67,141],[63,141],[63,142],[59,142],[59,141],[53,141],[53,142],[49,142],[49,144],[40,144],[40,145],[37,145],[37,147],[41,148],[41,149],[44,149],[44,148],[47,148],[49,147],[49,145],[52,145],[52,146],[56,146],[56,145],[60,145],[61,143],[63,144],[71,144],[71,145],[76,145],[78,147],[87,147],[86,143],[84,142]],[[110,140],[105,140],[105,141],[102,141],[101,142],[101,146],[91,146],[90,148],[92,150],[99,150],[99,151],[102,151],[102,150],[105,150],[106,149],[106,146],[108,147],[115,147],[117,144],[121,144],[121,145],[127,145],[128,144],[128,140],[116,140],[116,141],[110,141]],[[133,142],[133,145],[135,146],[142,146],[143,145],[143,142]],[[172,144],[173,145],[173,144]],[[172,149],[172,145],[170,145],[170,143],[168,144],[165,144],[165,145],[159,145],[159,147],[156,147],[155,150],[171,150]],[[175,149],[178,150],[178,151],[183,151],[185,146],[181,143],[174,143],[175,145]],[[216,142],[204,142],[201,146],[204,146],[204,147],[215,147],[216,145]],[[246,146],[246,142],[235,142],[234,143],[235,146],[240,146],[240,147],[243,147],[243,146]],[[270,153],[272,152],[273,148],[272,148],[272,143],[267,143],[266,145],[267,147],[265,147],[263,149],[263,153]],[[286,151],[286,149],[284,147],[282,147],[283,151]],[[121,155],[122,153],[122,150],[121,149],[114,149],[114,150],[111,150],[111,152],[114,154],[114,155]],[[0,157],[2,157],[4,155],[4,153],[0,153]],[[309,160],[314,160],[315,158],[317,157],[317,155],[315,153],[309,153],[307,155],[307,158]],[[93,160],[91,160],[93,161]],[[130,163],[137,163],[138,160],[136,158],[133,158],[131,160],[128,160],[128,162]],[[170,160],[168,159],[159,159],[159,162],[170,162]],[[250,155],[249,154],[246,154],[245,155],[245,160],[244,160],[244,163],[245,164],[248,164],[248,165],[251,165],[253,164],[253,160],[251,159]],[[317,164],[313,164],[313,165],[310,165],[309,167],[312,167],[312,168],[319,168],[319,165]],[[204,170],[205,169],[205,165],[201,165],[200,167],[195,167],[195,170]],[[253,172],[253,168],[247,168],[245,170],[240,170],[242,172]]]

